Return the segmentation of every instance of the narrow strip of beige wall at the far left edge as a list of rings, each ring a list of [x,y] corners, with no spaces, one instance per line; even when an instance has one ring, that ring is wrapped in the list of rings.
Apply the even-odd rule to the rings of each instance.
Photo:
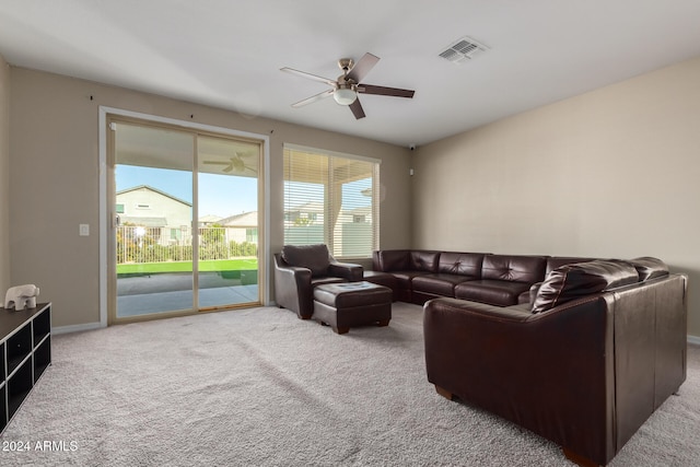
[[[10,281],[10,67],[0,56],[0,300]],[[4,303],[0,304],[0,306]]]

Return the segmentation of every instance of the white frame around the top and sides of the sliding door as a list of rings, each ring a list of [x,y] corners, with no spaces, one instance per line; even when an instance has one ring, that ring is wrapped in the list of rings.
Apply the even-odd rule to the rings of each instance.
[[[107,163],[109,135],[107,133],[107,120],[110,115],[117,117],[124,117],[127,119],[138,119],[147,122],[153,122],[155,125],[168,125],[180,127],[184,129],[202,131],[213,135],[231,136],[236,138],[245,138],[258,140],[262,144],[262,189],[258,187],[258,197],[262,197],[262,202],[258,200],[258,207],[262,209],[262,225],[261,237],[264,238],[264,247],[258,249],[258,275],[262,278],[260,285],[262,287],[262,293],[260,299],[264,305],[270,303],[270,271],[269,265],[269,244],[270,244],[270,151],[269,151],[269,137],[267,135],[258,135],[246,131],[233,130],[231,128],[215,127],[211,125],[197,124],[194,121],[177,120],[173,118],[160,117],[154,115],[141,114],[131,110],[125,110],[114,107],[100,107],[100,324],[105,327],[108,325],[108,310],[109,310],[109,288],[110,280],[109,271],[109,225],[110,220],[110,207],[109,205],[109,187],[108,176],[110,174],[110,167]],[[259,214],[258,214],[259,215]],[[194,218],[196,219],[196,218]]]

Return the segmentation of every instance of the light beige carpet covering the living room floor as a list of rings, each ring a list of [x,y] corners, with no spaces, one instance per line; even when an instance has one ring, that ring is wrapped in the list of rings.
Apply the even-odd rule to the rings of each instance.
[[[30,448],[0,452],[2,466],[572,465],[434,392],[415,305],[343,336],[267,307],[55,336],[52,351],[0,439]],[[680,396],[610,466],[700,465],[700,349],[689,355]]]

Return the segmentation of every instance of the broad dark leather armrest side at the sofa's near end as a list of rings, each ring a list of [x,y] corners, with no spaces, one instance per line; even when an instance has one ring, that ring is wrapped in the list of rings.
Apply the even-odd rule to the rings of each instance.
[[[588,459],[615,454],[608,297],[538,315],[456,299],[425,303],[428,381]],[[605,463],[603,463],[605,464]]]

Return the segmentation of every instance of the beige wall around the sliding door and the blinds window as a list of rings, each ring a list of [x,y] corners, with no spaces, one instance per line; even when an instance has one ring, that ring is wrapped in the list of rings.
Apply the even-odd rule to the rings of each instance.
[[[12,278],[18,283],[40,287],[40,297],[54,303],[55,326],[100,319],[101,105],[267,135],[272,252],[282,246],[284,142],[381,159],[381,183],[385,188],[381,245],[410,246],[410,211],[406,202],[410,157],[405,148],[22,68],[11,68],[11,82]],[[78,235],[81,223],[90,224],[90,236]]]

